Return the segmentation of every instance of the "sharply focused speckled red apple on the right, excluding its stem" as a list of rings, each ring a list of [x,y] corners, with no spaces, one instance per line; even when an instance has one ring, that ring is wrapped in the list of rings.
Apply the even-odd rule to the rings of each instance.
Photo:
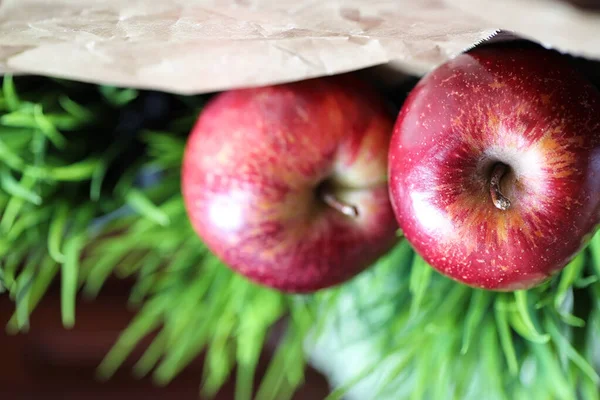
[[[512,173],[489,193],[496,162]],[[394,127],[390,196],[413,248],[472,287],[534,287],[600,221],[600,94],[545,49],[481,48],[426,75]]]

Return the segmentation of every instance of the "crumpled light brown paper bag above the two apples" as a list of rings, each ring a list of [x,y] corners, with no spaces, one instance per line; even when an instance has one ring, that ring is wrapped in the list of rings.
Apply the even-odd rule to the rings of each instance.
[[[418,75],[513,27],[549,46],[600,57],[597,15],[587,20],[562,10],[547,15],[552,24],[537,19],[530,29],[524,21],[534,16],[512,18],[525,3],[553,2],[0,0],[0,73],[181,94],[384,64]],[[570,25],[557,23],[565,18]],[[540,26],[549,27],[542,38]],[[566,27],[578,26],[577,35],[567,35]]]

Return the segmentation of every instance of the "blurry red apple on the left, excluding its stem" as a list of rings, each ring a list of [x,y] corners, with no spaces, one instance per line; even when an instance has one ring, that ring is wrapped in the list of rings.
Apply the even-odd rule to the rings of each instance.
[[[194,229],[227,266],[280,291],[352,278],[397,241],[387,186],[393,125],[378,95],[347,76],[217,95],[184,155]],[[357,218],[321,201],[323,181]]]

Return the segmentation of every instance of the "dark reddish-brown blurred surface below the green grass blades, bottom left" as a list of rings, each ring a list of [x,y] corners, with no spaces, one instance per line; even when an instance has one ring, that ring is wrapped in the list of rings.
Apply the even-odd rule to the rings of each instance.
[[[97,299],[78,298],[76,325],[68,330],[60,318],[60,293],[52,288],[42,298],[31,317],[28,333],[9,335],[4,330],[14,310],[6,294],[0,295],[0,400],[129,400],[178,399],[199,400],[202,358],[168,386],[158,387],[150,377],[135,378],[133,364],[149,340],[106,382],[95,378],[96,367],[115,343],[120,331],[134,315],[126,305],[130,287],[113,280]],[[150,339],[150,338],[149,338]],[[264,373],[269,355],[265,354],[258,376]],[[221,391],[217,400],[233,399],[233,382]],[[296,400],[323,399],[327,383],[313,370],[308,370],[306,384]]]

